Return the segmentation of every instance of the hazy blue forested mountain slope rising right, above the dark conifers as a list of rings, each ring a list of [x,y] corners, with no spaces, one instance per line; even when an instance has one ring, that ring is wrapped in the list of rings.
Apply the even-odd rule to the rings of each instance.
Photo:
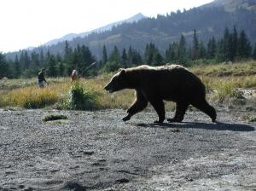
[[[189,10],[177,10],[166,15],[157,15],[156,18],[144,18],[137,22],[122,22],[122,24],[110,25],[96,29],[95,32],[84,34],[69,41],[73,49],[78,44],[89,47],[92,55],[97,60],[102,59],[102,48],[105,45],[108,55],[117,46],[122,49],[137,49],[144,54],[147,43],[154,43],[165,54],[170,43],[178,41],[183,34],[187,46],[190,47],[194,29],[200,41],[207,44],[210,38],[220,38],[224,34],[225,27],[233,32],[236,26],[237,32],[244,30],[251,43],[256,43],[256,0],[215,0],[212,3]],[[110,29],[111,28],[111,29]],[[103,32],[102,32],[103,31]],[[62,39],[64,40],[64,39]],[[64,55],[65,42],[58,41],[50,46],[42,46],[33,51],[46,53],[48,50],[55,55]],[[20,54],[20,53],[15,53]],[[7,55],[15,59],[15,54]]]

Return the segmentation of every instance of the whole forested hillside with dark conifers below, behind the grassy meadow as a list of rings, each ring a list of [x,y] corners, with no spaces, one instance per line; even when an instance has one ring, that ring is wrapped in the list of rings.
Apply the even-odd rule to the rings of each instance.
[[[142,63],[191,66],[197,60],[255,59],[255,8],[255,0],[216,0],[200,8],[114,26],[111,31],[85,38],[0,54],[0,78],[31,77],[41,67],[49,76],[67,76],[74,68],[88,76]],[[96,67],[84,72],[94,61]]]

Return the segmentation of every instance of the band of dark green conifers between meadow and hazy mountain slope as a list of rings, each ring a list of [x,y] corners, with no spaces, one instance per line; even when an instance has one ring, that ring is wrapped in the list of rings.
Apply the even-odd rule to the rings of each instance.
[[[69,76],[76,69],[83,77],[97,75],[99,72],[113,72],[120,67],[134,67],[141,64],[160,66],[165,63],[178,63],[183,66],[191,66],[198,60],[211,60],[212,62],[238,61],[246,59],[256,60],[256,43],[249,42],[246,32],[236,31],[236,26],[230,31],[224,29],[223,36],[219,39],[210,38],[203,43],[198,38],[196,30],[193,31],[192,43],[187,43],[181,34],[179,41],[170,43],[165,53],[162,54],[154,43],[147,43],[144,53],[140,53],[131,46],[128,49],[119,49],[114,46],[108,53],[104,45],[102,59],[96,61],[90,49],[85,45],[77,45],[72,49],[66,41],[63,55],[53,55],[49,50],[44,54],[22,50],[20,56],[15,56],[15,61],[7,61],[5,55],[0,52],[0,78],[31,78],[36,76],[44,67],[49,77]],[[96,66],[87,68],[96,61]]]

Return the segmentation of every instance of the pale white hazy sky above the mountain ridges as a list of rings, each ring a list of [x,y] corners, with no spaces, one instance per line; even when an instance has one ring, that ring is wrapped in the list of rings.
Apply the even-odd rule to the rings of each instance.
[[[1,0],[0,51],[39,46],[142,13],[149,17],[212,0]]]

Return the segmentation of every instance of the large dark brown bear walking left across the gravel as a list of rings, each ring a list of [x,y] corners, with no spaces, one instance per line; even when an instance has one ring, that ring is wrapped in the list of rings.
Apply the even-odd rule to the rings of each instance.
[[[206,88],[201,79],[179,65],[120,69],[104,89],[110,93],[136,90],[136,100],[127,110],[124,121],[141,112],[149,101],[159,116],[154,123],[163,123],[166,119],[164,100],[176,102],[174,118],[167,119],[168,122],[182,122],[190,104],[210,116],[212,122],[216,120],[216,111],[206,101]]]

